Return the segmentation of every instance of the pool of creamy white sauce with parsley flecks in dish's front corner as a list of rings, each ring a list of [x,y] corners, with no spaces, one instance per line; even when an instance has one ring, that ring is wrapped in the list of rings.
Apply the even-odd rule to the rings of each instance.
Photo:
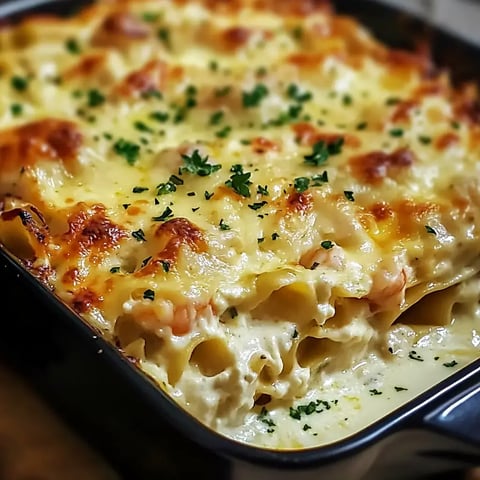
[[[416,337],[409,327],[390,334],[394,354],[370,354],[352,369],[318,374],[318,386],[292,403],[257,407],[239,427],[219,430],[241,442],[301,448],[344,439],[415,398],[478,356],[478,334],[457,322]],[[476,348],[475,348],[476,347]],[[223,427],[223,428],[222,428]]]

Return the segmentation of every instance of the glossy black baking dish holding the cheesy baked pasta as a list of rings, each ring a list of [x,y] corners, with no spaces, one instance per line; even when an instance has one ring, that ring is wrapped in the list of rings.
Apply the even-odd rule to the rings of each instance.
[[[66,14],[81,4],[0,2],[0,23],[32,12]],[[376,2],[340,0],[336,7],[391,45],[411,48],[427,38],[455,81],[480,79],[480,48]],[[3,248],[0,279],[0,354],[121,478],[453,478],[452,471],[480,465],[480,360],[348,439],[302,451],[259,449],[186,414]]]

